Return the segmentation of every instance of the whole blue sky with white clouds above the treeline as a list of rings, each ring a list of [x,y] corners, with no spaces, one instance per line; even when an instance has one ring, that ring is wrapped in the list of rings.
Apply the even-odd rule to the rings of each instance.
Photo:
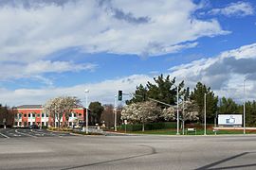
[[[254,0],[0,0],[0,103],[113,104],[163,74],[256,99]],[[245,80],[245,92],[243,83]],[[124,96],[129,99],[129,96]]]

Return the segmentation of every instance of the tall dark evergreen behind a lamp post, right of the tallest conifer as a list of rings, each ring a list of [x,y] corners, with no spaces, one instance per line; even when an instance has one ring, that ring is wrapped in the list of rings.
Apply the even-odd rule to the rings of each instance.
[[[210,91],[210,87],[198,82],[194,88],[191,99],[198,105],[199,118],[201,121],[204,119],[204,95],[207,94],[207,118],[213,120],[217,111],[218,97],[214,96],[214,93]]]

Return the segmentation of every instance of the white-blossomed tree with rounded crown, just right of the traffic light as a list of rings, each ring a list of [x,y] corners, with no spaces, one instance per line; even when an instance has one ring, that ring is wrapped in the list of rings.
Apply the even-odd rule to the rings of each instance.
[[[155,121],[159,113],[160,109],[154,102],[139,102],[125,106],[121,111],[121,119],[142,123],[142,131],[144,131],[145,123]]]

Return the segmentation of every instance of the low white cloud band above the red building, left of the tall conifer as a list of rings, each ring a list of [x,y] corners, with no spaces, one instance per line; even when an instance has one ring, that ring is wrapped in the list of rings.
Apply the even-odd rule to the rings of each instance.
[[[46,100],[51,97],[61,95],[78,96],[84,104],[84,90],[89,90],[89,101],[100,101],[102,103],[113,103],[114,96],[119,90],[123,93],[133,93],[137,85],[146,84],[150,76],[134,75],[121,77],[117,79],[105,80],[94,84],[81,84],[67,88],[46,88],[46,89],[17,89],[10,91],[0,89],[0,103],[9,106],[17,106],[24,104],[45,104]],[[124,96],[124,99],[129,96]]]

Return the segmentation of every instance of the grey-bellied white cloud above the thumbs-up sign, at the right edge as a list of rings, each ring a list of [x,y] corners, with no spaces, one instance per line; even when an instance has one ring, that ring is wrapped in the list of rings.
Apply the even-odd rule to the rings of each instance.
[[[189,64],[170,69],[171,76],[185,79],[194,88],[201,81],[220,96],[233,97],[237,101],[244,98],[243,82],[246,81],[247,98],[256,99],[256,43],[229,50],[210,59],[194,60]]]

